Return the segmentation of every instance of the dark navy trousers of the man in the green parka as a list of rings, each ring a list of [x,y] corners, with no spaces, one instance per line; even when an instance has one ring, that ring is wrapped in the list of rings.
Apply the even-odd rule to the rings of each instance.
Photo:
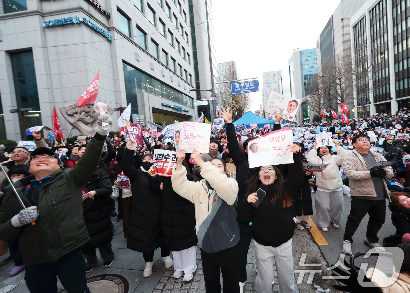
[[[81,247],[54,263],[37,263],[25,267],[24,279],[31,293],[57,293],[57,276],[68,293],[90,293]]]

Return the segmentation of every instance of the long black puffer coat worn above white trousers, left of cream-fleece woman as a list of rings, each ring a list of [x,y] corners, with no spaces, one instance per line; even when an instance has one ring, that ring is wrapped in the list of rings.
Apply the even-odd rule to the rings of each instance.
[[[163,184],[161,223],[166,249],[180,251],[196,245],[195,205],[172,189],[171,177],[156,176],[149,180],[150,190],[154,194],[161,192],[160,183]]]

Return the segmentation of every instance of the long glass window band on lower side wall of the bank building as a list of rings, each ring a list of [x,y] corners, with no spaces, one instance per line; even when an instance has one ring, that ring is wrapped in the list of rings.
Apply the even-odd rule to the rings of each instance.
[[[193,99],[181,92],[169,87],[168,85],[152,78],[145,73],[142,73],[138,69],[134,69],[128,64],[123,63],[124,68],[124,80],[125,80],[125,94],[127,96],[127,104],[131,103],[132,114],[138,113],[138,101],[137,92],[148,92],[159,98],[163,98],[167,101],[172,101],[180,105],[184,105],[188,108],[194,108]],[[137,78],[137,89],[135,88],[135,78]],[[142,80],[142,85],[141,85]],[[137,106],[137,108],[135,108]]]

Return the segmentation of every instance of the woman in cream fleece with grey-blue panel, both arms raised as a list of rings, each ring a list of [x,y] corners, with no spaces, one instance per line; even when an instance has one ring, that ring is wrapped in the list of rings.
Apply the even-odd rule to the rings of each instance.
[[[185,150],[177,153],[178,163],[172,171],[172,187],[176,193],[195,204],[196,235],[201,249],[205,288],[221,292],[219,272],[222,272],[223,292],[239,292],[239,227],[235,211],[238,183],[228,178],[225,163],[216,158],[208,162],[194,149],[191,158],[201,168],[201,181],[187,179],[182,167]]]

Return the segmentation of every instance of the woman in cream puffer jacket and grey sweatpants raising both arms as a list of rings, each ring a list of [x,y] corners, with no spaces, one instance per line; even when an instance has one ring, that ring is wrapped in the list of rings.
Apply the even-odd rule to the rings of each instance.
[[[313,143],[313,149],[307,154],[307,160],[313,164],[328,164],[322,172],[315,172],[317,190],[314,197],[316,217],[319,227],[328,231],[329,221],[335,228],[340,228],[343,218],[342,174],[339,165],[347,155],[347,151],[333,140],[337,155],[330,153],[329,146],[316,149],[318,142]]]

